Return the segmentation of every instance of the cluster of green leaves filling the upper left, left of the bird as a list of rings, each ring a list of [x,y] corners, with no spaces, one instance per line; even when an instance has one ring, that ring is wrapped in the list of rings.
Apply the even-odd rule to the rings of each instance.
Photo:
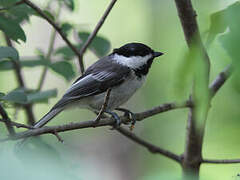
[[[74,0],[49,0],[46,6],[41,7],[41,9],[52,21],[57,21],[56,19],[58,19],[56,10],[51,9],[52,4],[54,4],[54,6],[59,6],[59,8],[65,8],[70,13],[74,13],[75,11]],[[26,42],[27,35],[24,31],[23,24],[29,23],[31,21],[31,16],[42,18],[38,12],[23,1],[1,0],[0,32],[16,43]],[[69,22],[60,21],[57,22],[57,24],[59,24],[61,31],[67,38],[73,36],[73,30],[78,32],[79,39],[78,42],[74,43],[74,46],[80,51],[90,33],[82,31],[80,29],[81,27],[79,28],[78,25]],[[53,42],[54,40],[55,39],[53,39]],[[110,47],[110,42],[106,38],[96,36],[89,49],[97,57],[101,57],[109,52]],[[25,68],[44,67],[51,70],[55,75],[63,77],[66,81],[71,81],[76,76],[76,68],[74,68],[74,63],[72,61],[75,57],[76,53],[74,53],[68,45],[59,48],[55,48],[53,45],[48,53],[45,54],[40,50],[35,57],[27,57],[25,59],[21,58],[18,50],[14,47],[0,46],[0,71],[15,71],[16,64],[23,70]],[[0,101],[24,105],[48,102],[49,98],[56,97],[56,95],[56,89],[41,91],[40,89],[17,87],[9,92],[0,92]]]

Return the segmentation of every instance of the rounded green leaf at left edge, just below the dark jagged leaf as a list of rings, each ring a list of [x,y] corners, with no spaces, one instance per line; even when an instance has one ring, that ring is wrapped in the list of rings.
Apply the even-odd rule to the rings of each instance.
[[[10,58],[12,60],[19,60],[18,52],[13,47],[0,46],[0,60]]]

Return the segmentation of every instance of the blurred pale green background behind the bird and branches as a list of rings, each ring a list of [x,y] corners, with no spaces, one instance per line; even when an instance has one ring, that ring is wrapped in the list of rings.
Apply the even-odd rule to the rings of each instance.
[[[44,4],[44,1],[34,1]],[[93,30],[103,11],[108,6],[106,0],[75,0],[73,14],[62,11],[60,21],[77,24],[81,30]],[[210,14],[225,8],[234,0],[193,0],[198,14],[199,28],[206,41],[210,26]],[[36,48],[44,52],[48,49],[51,27],[42,19],[31,17],[30,23],[23,25],[27,42],[16,44],[21,57],[33,56]],[[128,42],[142,42],[164,56],[154,62],[145,86],[126,104],[133,112],[141,112],[167,102],[181,102],[188,98],[191,84],[181,84],[179,71],[187,52],[187,46],[174,1],[169,0],[119,0],[111,11],[99,35],[106,37],[112,48]],[[0,39],[0,45],[4,41]],[[56,46],[65,45],[58,36]],[[211,58],[211,80],[228,65],[231,60],[216,39],[207,49]],[[84,63],[89,66],[97,58],[88,51]],[[186,67],[187,68],[187,67]],[[29,88],[36,88],[41,68],[24,69],[24,78]],[[203,144],[203,157],[214,159],[239,158],[239,91],[230,78],[213,99],[207,120]],[[8,92],[17,86],[11,71],[0,72],[0,89]],[[41,118],[61,97],[70,85],[54,72],[47,73],[43,89],[58,89],[57,98],[49,104],[34,107],[37,119]],[[186,86],[185,88],[182,86]],[[13,117],[13,109],[9,108]],[[175,110],[139,122],[134,132],[177,154],[185,145],[187,109]],[[49,125],[78,122],[93,119],[95,115],[87,110],[73,109],[61,113]],[[24,122],[21,111],[18,122]],[[1,137],[6,130],[1,125]],[[109,127],[92,128],[60,134],[64,144],[54,136],[44,135],[31,143],[2,143],[0,146],[1,179],[87,179],[87,180],[155,180],[180,179],[181,167],[161,155],[151,154],[145,148],[131,142]],[[201,166],[201,180],[232,180],[240,173],[239,164]]]

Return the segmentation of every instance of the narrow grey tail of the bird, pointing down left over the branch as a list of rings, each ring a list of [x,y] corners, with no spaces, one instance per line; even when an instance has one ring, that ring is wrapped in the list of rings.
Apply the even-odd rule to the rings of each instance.
[[[51,109],[45,116],[43,116],[38,122],[33,126],[34,128],[43,127],[47,124],[52,118],[54,118],[57,114],[59,114],[63,108],[55,108]]]

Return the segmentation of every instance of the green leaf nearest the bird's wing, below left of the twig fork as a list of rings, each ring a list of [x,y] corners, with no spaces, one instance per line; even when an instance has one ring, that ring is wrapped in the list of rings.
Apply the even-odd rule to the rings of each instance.
[[[67,81],[70,81],[75,77],[73,66],[69,62],[59,61],[56,63],[52,63],[50,65],[50,68],[57,74],[64,77]]]

